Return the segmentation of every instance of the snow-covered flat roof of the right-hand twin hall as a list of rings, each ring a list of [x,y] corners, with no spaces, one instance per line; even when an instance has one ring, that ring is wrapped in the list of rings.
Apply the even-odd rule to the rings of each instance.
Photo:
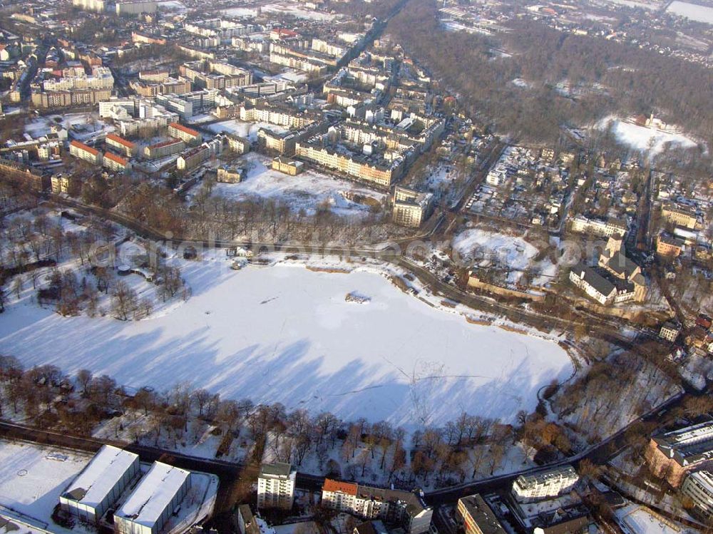
[[[114,515],[151,527],[188,478],[190,471],[154,462]]]

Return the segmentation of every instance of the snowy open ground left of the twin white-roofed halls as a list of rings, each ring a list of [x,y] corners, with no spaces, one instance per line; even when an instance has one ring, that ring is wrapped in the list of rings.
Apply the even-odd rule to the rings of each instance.
[[[51,459],[66,458],[64,461]],[[29,443],[0,441],[0,511],[53,532],[69,532],[51,523],[59,495],[91,460],[91,455]]]

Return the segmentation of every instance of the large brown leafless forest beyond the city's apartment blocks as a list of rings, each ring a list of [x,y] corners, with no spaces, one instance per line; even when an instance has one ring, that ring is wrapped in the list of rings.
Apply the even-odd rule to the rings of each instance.
[[[411,0],[388,31],[496,133],[561,143],[563,125],[653,112],[713,143],[713,73],[702,66],[526,19],[496,36],[446,31],[437,9],[434,0]],[[565,80],[577,91],[558,92]]]

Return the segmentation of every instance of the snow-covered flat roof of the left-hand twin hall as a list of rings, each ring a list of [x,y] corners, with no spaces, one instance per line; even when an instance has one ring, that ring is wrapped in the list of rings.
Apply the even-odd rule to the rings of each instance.
[[[104,445],[62,496],[96,508],[135,462],[138,462],[138,455]]]

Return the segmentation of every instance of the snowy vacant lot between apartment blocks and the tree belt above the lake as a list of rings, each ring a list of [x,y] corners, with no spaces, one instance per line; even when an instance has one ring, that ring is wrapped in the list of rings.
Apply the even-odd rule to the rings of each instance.
[[[348,200],[342,193],[371,197],[375,202],[384,199],[384,193],[361,188],[347,180],[332,178],[314,170],[306,170],[297,176],[289,176],[272,170],[270,160],[257,153],[245,156],[249,162],[247,178],[241,183],[217,183],[213,194],[234,200],[250,197],[279,198],[289,202],[294,210],[304,209],[312,213],[318,205],[326,202],[339,215],[366,215],[369,206]]]

